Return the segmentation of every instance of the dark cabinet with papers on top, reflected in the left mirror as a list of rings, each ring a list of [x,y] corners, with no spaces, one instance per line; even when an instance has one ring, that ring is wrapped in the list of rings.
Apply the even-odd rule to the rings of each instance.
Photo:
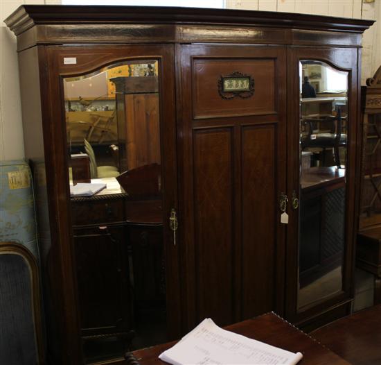
[[[114,339],[112,355],[121,356],[134,337],[125,244],[127,194],[115,178],[100,182],[107,188],[95,196],[71,198],[80,331],[85,359],[91,361],[110,355],[102,344],[105,339]],[[98,355],[100,346],[103,357]]]

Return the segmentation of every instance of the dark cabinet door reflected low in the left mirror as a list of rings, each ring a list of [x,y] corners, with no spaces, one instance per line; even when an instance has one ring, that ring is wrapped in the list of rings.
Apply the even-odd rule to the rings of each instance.
[[[75,232],[80,322],[84,334],[128,328],[128,312],[132,307],[128,298],[127,255],[122,247],[124,235],[123,228]]]

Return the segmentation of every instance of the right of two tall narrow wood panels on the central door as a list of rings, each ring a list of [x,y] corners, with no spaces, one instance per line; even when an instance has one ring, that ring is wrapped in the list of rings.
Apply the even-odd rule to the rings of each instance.
[[[273,309],[276,128],[242,128],[242,315]],[[255,268],[255,269],[254,269]],[[253,303],[256,303],[253,305]]]

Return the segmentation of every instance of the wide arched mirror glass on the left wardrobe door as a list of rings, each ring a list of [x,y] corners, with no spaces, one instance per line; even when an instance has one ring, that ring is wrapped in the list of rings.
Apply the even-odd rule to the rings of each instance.
[[[167,341],[158,77],[139,59],[63,79],[71,188],[106,185],[71,197],[87,363]]]

